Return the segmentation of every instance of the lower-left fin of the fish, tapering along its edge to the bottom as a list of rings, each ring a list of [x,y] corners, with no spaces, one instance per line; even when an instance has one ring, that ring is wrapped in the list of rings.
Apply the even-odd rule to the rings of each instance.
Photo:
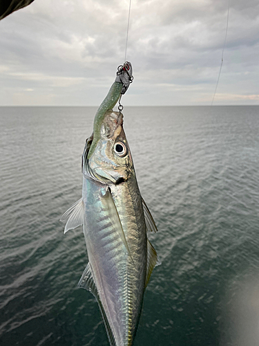
[[[104,320],[104,325],[106,328],[109,342],[110,342],[111,346],[116,346],[115,339],[113,336],[113,331],[111,330],[111,327],[110,327],[110,324],[108,322],[106,313],[104,311],[104,307],[102,306],[102,302],[99,299],[97,288],[96,288],[95,282],[93,280],[93,275],[92,275],[92,272],[90,270],[89,262],[88,262],[88,264],[84,270],[84,273],[81,275],[81,279],[79,280],[77,287],[79,287],[79,289],[87,289],[88,291],[90,291],[90,293],[93,293],[93,295],[95,296],[95,299],[97,300],[97,302],[99,304],[99,309],[102,313],[102,319]]]

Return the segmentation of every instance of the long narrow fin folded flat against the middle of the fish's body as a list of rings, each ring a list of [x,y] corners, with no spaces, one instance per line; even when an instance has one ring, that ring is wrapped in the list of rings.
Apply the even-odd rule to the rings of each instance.
[[[108,210],[108,215],[111,219],[111,222],[113,223],[113,227],[119,233],[119,237],[122,239],[122,242],[123,242],[124,246],[126,247],[126,251],[128,252],[128,255],[131,256],[131,251],[128,248],[128,243],[127,243],[126,237],[124,235],[122,223],[119,219],[119,214],[117,212],[117,208],[116,208],[115,203],[113,201],[113,196],[111,195],[110,188],[107,189],[106,194],[102,195],[102,203],[104,204],[104,206]],[[132,256],[131,256],[131,260],[133,260]]]

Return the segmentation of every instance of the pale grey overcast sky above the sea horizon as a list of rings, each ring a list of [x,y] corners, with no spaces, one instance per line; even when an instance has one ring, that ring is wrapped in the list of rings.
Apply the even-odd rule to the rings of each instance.
[[[124,62],[129,0],[35,0],[0,21],[0,105],[97,106]],[[228,0],[132,0],[123,104],[211,104]],[[259,1],[230,0],[214,104],[259,103]]]

